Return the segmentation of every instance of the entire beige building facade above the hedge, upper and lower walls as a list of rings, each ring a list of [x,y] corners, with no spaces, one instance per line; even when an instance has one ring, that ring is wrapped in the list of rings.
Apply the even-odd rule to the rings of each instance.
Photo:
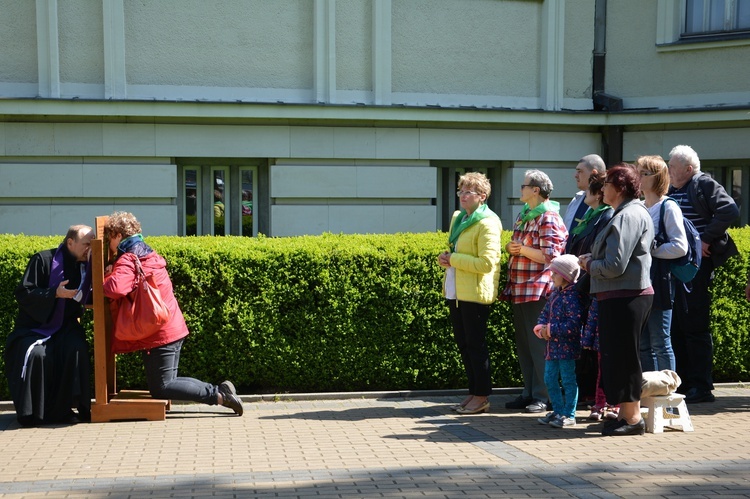
[[[595,0],[0,0],[0,231],[132,209],[179,233],[193,164],[256,168],[269,235],[444,228],[467,169],[509,227],[527,169],[564,207],[589,153],[750,172],[750,43],[674,43],[680,1],[607,2],[617,113]]]

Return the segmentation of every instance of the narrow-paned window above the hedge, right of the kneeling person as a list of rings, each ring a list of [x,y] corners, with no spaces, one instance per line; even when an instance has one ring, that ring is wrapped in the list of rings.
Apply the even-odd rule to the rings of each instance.
[[[184,166],[180,175],[181,234],[257,234],[255,166]]]

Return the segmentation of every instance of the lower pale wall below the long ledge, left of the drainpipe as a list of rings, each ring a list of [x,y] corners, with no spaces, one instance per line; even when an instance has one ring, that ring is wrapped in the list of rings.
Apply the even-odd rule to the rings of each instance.
[[[180,158],[271,158],[268,235],[424,232],[441,228],[435,163],[509,165],[495,185],[506,226],[528,168],[548,171],[565,206],[592,132],[313,126],[4,123],[0,125],[0,232],[58,233],[114,210],[177,234]],[[248,161],[253,163],[253,161]],[[506,184],[503,181],[503,184]],[[33,220],[33,224],[29,223]]]

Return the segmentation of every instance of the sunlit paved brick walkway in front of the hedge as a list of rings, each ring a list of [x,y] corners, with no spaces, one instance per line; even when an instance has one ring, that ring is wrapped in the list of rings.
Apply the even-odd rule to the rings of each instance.
[[[689,407],[695,432],[643,437],[601,437],[587,411],[542,426],[505,410],[509,393],[477,416],[434,393],[247,397],[242,418],[174,405],[166,422],[34,429],[1,412],[0,496],[750,496],[750,389],[715,394]]]

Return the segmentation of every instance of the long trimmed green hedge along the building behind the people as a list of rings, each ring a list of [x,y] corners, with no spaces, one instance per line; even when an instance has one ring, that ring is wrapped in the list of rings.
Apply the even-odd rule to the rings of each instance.
[[[717,272],[717,381],[748,380],[742,256]],[[503,244],[510,232],[503,233]],[[0,348],[17,313],[13,290],[28,258],[62,237],[0,235]],[[148,237],[169,264],[188,327],[182,375],[232,379],[243,393],[462,388],[436,256],[444,233],[293,238]],[[503,255],[503,267],[505,259]],[[91,331],[91,314],[84,319]],[[495,386],[519,386],[507,302],[490,315]],[[145,387],[138,354],[118,356],[119,386]],[[5,379],[0,398],[8,398]]]

